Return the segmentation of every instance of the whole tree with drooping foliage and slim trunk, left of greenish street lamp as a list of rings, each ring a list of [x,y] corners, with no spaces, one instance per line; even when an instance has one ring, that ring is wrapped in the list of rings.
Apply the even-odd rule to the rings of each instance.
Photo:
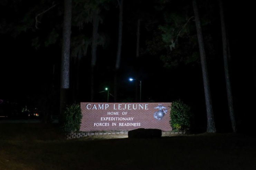
[[[95,69],[97,60],[97,46],[106,44],[106,34],[98,32],[98,26],[103,22],[106,11],[110,8],[110,0],[75,0],[74,4],[74,25],[78,26],[79,34],[77,41],[72,44],[72,54],[76,58],[80,51],[83,56],[87,53],[87,48],[91,45],[91,101],[95,96]],[[92,34],[87,35],[88,26],[92,23]],[[90,28],[91,29],[91,28]],[[90,37],[92,35],[92,37]],[[79,62],[79,61],[78,61]]]

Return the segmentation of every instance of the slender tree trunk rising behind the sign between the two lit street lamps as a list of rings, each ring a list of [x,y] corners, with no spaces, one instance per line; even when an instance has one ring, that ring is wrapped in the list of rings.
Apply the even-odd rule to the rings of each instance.
[[[116,53],[116,65],[115,65],[115,77],[114,77],[114,101],[117,102],[117,81],[118,70],[121,61],[121,49],[122,49],[122,33],[123,33],[123,0],[119,2],[119,25],[118,25],[118,44]]]

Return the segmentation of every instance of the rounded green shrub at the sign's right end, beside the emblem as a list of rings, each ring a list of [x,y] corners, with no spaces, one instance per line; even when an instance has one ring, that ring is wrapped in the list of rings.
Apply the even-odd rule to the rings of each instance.
[[[190,128],[190,107],[180,99],[173,102],[170,111],[170,125],[173,129],[189,130]]]

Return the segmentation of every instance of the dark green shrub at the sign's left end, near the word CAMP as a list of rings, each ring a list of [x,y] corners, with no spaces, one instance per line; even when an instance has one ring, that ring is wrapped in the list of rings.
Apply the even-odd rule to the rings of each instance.
[[[73,104],[66,108],[63,115],[61,130],[67,133],[79,131],[82,119],[82,110],[79,104]]]

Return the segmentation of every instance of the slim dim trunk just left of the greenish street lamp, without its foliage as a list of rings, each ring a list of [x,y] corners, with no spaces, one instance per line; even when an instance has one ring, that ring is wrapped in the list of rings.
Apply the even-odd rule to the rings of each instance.
[[[99,17],[97,11],[93,13],[93,36],[92,36],[92,60],[91,60],[91,102],[94,101],[94,76],[97,59],[97,35],[98,35]]]

